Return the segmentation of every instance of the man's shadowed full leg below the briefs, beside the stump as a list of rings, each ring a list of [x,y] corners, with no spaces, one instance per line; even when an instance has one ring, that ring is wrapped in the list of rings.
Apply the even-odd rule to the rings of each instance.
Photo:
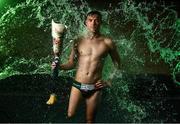
[[[86,99],[86,118],[95,118],[97,107],[101,102],[102,91],[96,91],[91,97]]]

